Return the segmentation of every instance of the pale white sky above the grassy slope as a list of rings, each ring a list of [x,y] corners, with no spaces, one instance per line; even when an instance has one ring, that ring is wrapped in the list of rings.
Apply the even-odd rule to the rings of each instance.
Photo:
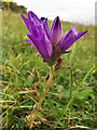
[[[96,0],[13,0],[18,5],[25,5],[27,11],[33,11],[38,16],[54,20],[95,24]]]

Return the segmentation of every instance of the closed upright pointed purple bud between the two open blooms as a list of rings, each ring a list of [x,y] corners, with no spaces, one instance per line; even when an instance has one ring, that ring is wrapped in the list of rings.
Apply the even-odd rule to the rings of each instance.
[[[61,35],[61,24],[60,24],[59,17],[57,16],[54,20],[52,27],[51,27],[51,31],[50,31],[52,44],[56,46],[59,43],[60,35]]]

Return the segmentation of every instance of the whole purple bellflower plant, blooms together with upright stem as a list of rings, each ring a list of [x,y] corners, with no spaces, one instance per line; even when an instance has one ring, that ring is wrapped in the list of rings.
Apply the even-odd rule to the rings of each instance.
[[[75,29],[75,25],[72,25],[70,30],[66,31],[61,36],[61,24],[59,16],[53,21],[51,29],[48,29],[47,18],[39,18],[31,11],[28,12],[27,18],[24,15],[22,15],[22,17],[28,28],[27,36],[29,39],[26,39],[26,41],[34,46],[41,54],[43,62],[46,62],[50,65],[50,73],[46,78],[43,93],[40,96],[39,102],[34,103],[31,114],[26,117],[27,125],[31,129],[34,125],[34,120],[37,119],[38,110],[40,109],[50,89],[50,84],[52,83],[53,72],[54,69],[59,69],[61,66],[61,54],[68,53],[69,51],[67,50],[72,46],[72,43],[85,35],[87,30],[79,32]],[[37,94],[37,88],[33,87],[32,90],[34,90],[33,92]]]

